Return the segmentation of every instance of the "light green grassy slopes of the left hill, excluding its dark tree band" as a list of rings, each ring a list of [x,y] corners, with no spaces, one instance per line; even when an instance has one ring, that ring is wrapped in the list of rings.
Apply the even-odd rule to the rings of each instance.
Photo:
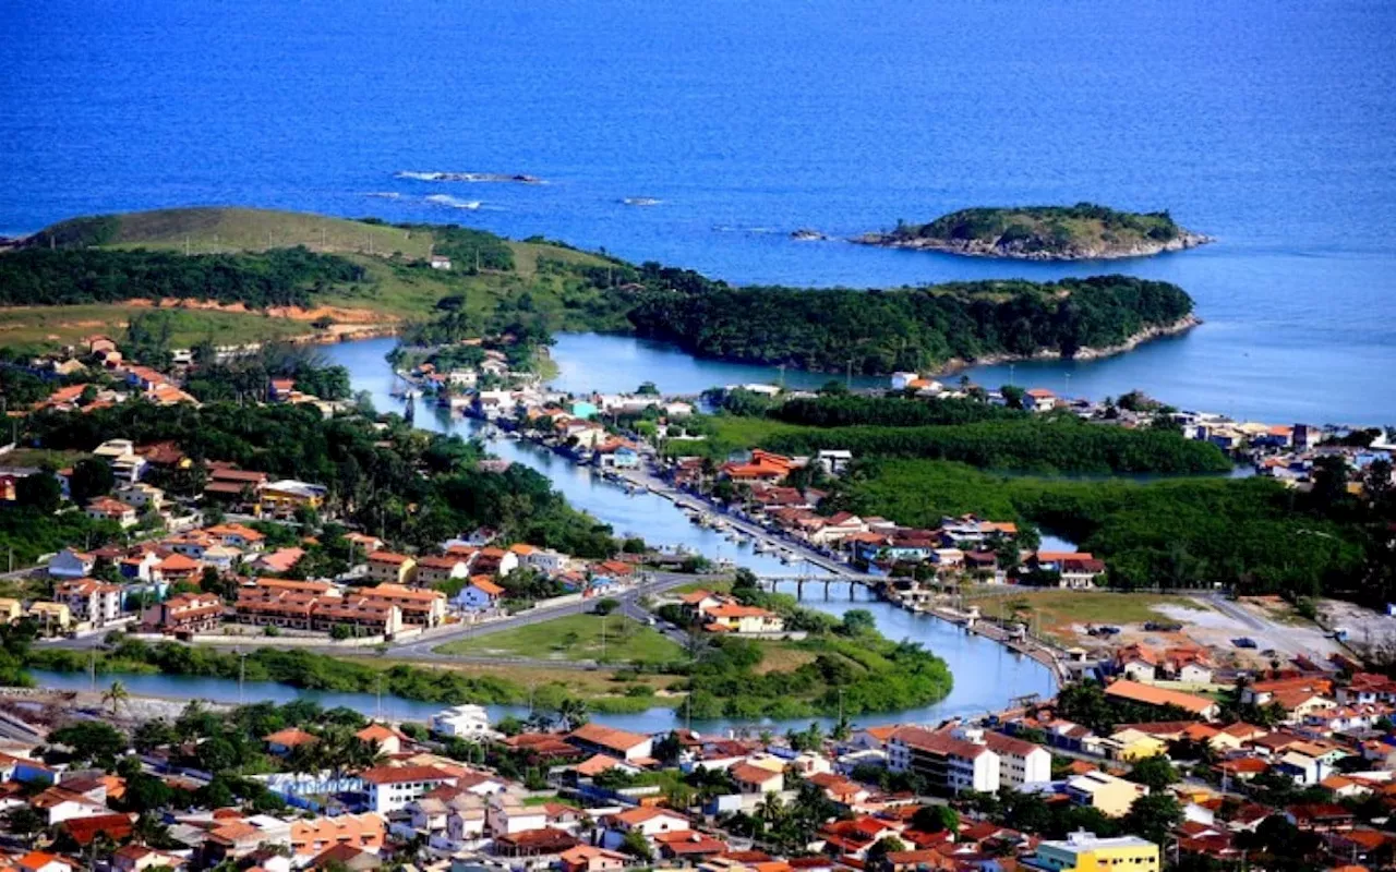
[[[504,244],[514,269],[473,273],[469,264],[434,271],[424,264],[436,244],[430,230],[391,227],[296,212],[246,208],[156,209],[78,218],[45,229],[38,244],[53,239],[66,247],[163,248],[190,254],[261,251],[304,246],[345,257],[367,280],[317,290],[317,307],[380,313],[396,321],[426,321],[443,297],[462,297],[463,311],[486,324],[500,310],[528,310],[553,329],[625,329],[613,292],[579,280],[577,266],[603,266],[595,254],[542,241]],[[133,294],[140,289],[133,289]],[[121,303],[11,308],[0,315],[0,345],[45,350],[92,332],[120,335],[131,307]],[[348,317],[348,315],[346,315]],[[219,345],[278,340],[314,332],[310,318],[268,320],[240,313],[181,313],[174,345],[214,335]],[[335,320],[335,318],[332,318]],[[362,317],[353,318],[362,321]]]

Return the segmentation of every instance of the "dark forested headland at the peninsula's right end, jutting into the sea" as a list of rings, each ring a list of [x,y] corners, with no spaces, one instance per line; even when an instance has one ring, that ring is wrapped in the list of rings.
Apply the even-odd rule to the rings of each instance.
[[[881,374],[949,360],[1071,357],[1125,342],[1192,311],[1180,287],[1131,276],[1034,283],[959,282],[916,290],[734,289],[642,268],[652,287],[630,313],[642,336],[705,357]]]

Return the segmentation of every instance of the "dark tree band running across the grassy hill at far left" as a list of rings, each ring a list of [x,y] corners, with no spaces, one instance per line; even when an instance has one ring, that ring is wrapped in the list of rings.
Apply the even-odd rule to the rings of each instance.
[[[0,306],[74,306],[163,297],[309,306],[334,285],[364,282],[364,269],[307,248],[251,254],[25,248],[0,258]]]

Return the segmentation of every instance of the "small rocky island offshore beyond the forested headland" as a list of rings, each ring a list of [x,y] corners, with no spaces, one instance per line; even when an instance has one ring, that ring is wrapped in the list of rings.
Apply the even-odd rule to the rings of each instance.
[[[1092,202],[1074,206],[974,208],[926,225],[898,222],[856,243],[924,248],[970,257],[1089,261],[1182,251],[1212,237],[1180,227],[1167,212],[1120,212]]]

